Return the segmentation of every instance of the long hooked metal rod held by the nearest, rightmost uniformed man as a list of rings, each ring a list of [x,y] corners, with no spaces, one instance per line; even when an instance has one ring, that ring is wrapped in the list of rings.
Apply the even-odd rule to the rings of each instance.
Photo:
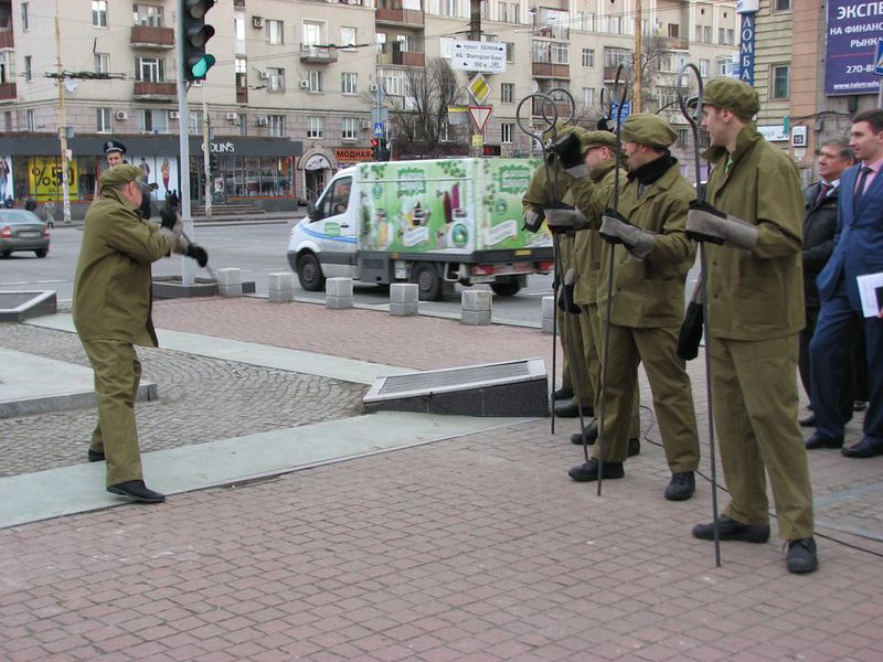
[[[693,73],[696,85],[696,106],[693,111],[690,111],[687,94],[683,89],[684,82],[690,77],[690,72]],[[688,63],[681,67],[678,74],[678,105],[681,108],[681,114],[687,118],[690,128],[693,132],[693,159],[695,161],[695,175],[696,175],[696,197],[700,201],[705,200],[705,188],[702,185],[702,174],[700,172],[699,160],[699,118],[702,114],[702,99],[704,96],[704,88],[702,85],[702,74],[699,68],[692,63]],[[708,399],[709,412],[709,459],[711,461],[711,512],[712,512],[712,528],[714,530],[714,564],[721,567],[721,532],[717,526],[717,461],[714,451],[714,406],[712,399],[712,385],[711,385],[711,327],[709,322],[709,258],[705,249],[705,244],[699,244],[699,264],[700,264],[700,288],[702,297],[702,321],[705,329],[705,398]]]

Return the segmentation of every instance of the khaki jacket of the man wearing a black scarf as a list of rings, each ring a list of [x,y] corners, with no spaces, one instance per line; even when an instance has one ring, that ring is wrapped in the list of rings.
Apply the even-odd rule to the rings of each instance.
[[[620,182],[621,184],[621,182]],[[683,320],[684,281],[695,261],[695,245],[684,232],[693,186],[680,174],[678,163],[638,197],[638,180],[619,192],[619,213],[635,225],[657,233],[652,250],[638,260],[621,245],[604,242],[602,263],[614,250],[614,324],[634,328],[678,327]],[[611,203],[611,194],[605,207]],[[600,270],[598,311],[606,314],[607,269]]]

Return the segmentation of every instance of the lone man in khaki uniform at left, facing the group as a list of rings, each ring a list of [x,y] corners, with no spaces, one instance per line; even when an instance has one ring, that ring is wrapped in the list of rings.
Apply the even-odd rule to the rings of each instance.
[[[136,166],[116,166],[102,174],[100,194],[86,213],[74,277],[73,317],[95,372],[98,424],[88,459],[107,460],[107,491],[159,503],[166,498],[145,485],[135,397],[141,364],[134,344],[157,346],[150,321],[151,263],[170,250],[183,253],[181,224],[160,227],[141,221],[138,207],[146,184]]]

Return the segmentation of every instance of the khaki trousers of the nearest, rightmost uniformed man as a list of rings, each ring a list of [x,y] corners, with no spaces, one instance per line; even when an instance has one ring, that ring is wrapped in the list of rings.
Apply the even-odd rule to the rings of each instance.
[[[711,340],[714,426],[730,490],[724,514],[767,524],[769,476],[779,535],[812,535],[812,489],[797,425],[797,333],[762,341]]]

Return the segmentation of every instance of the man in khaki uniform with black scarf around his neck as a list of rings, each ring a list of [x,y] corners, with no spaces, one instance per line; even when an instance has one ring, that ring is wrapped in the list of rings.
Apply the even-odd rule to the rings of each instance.
[[[638,388],[638,364],[643,363],[666,458],[672,477],[666,499],[683,501],[695,491],[699,435],[693,395],[684,362],[677,354],[683,319],[687,274],[695,249],[684,233],[688,205],[695,197],[669,152],[677,135],[657,115],[631,115],[621,129],[628,158],[628,182],[619,196],[618,213],[607,209],[599,228],[605,239],[602,263],[613,252],[613,310],[609,364],[602,398],[605,429],[600,450],[570,471],[576,481],[623,478],[628,456],[632,402]],[[606,201],[607,206],[611,200]],[[549,213],[546,212],[546,215]],[[598,310],[606,310],[606,270],[598,285]]]

